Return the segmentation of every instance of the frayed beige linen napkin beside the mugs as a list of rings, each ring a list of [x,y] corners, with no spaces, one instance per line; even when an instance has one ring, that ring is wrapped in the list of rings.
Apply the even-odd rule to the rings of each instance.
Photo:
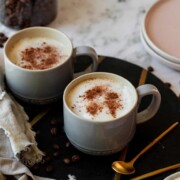
[[[43,156],[28,120],[23,107],[5,92],[0,66],[0,179],[4,179],[4,175],[19,180],[48,179],[34,176],[28,169]]]

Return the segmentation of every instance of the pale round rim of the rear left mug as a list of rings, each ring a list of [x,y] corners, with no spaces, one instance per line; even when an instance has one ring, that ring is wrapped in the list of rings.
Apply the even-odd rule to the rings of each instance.
[[[44,31],[54,31],[55,33],[60,34],[61,36],[65,37],[65,38],[69,41],[71,50],[70,50],[70,53],[69,53],[67,59],[66,59],[63,63],[61,63],[61,64],[59,64],[59,65],[57,65],[57,66],[55,66],[55,67],[52,67],[52,68],[47,68],[47,69],[34,69],[34,70],[32,70],[32,69],[22,68],[22,67],[20,67],[20,66],[18,66],[18,65],[16,65],[16,64],[14,64],[14,63],[9,59],[9,57],[8,57],[8,52],[7,52],[7,46],[11,43],[12,38],[18,36],[19,34],[23,34],[23,33],[26,33],[26,32],[28,32],[28,31],[35,31],[35,30],[38,30],[38,31],[43,31],[43,30],[44,30]],[[52,70],[54,70],[54,69],[56,69],[56,68],[59,68],[60,66],[62,66],[63,64],[65,64],[65,63],[72,57],[72,55],[73,55],[73,44],[72,44],[72,41],[70,40],[69,36],[68,36],[66,33],[64,33],[64,32],[62,32],[62,31],[60,31],[60,30],[57,30],[57,29],[54,29],[54,28],[51,28],[51,27],[35,26],[35,27],[24,28],[24,29],[22,29],[22,30],[20,30],[20,31],[15,32],[12,36],[10,36],[10,37],[8,38],[8,40],[6,41],[5,45],[4,45],[3,54],[4,54],[4,57],[5,57],[5,58],[4,58],[4,61],[7,61],[7,62],[10,63],[13,67],[15,67],[15,68],[17,68],[17,69],[19,69],[19,70],[21,70],[21,71],[25,71],[25,72],[47,72],[47,71],[52,71]]]

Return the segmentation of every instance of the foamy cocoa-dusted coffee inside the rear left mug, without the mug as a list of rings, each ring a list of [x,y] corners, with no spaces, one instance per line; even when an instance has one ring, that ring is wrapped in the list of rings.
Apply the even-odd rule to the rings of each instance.
[[[23,38],[13,45],[9,58],[19,67],[44,70],[64,63],[68,58],[66,49],[65,45],[55,39]]]

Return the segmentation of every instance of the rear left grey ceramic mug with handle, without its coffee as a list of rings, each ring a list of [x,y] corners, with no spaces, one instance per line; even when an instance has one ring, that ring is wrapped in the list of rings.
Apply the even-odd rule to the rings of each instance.
[[[16,42],[23,38],[49,38],[66,47],[67,58],[63,64],[44,70],[24,69],[13,63],[10,52]],[[32,27],[11,36],[4,47],[5,77],[15,96],[33,104],[47,104],[62,97],[64,88],[73,79],[73,63],[76,56],[87,55],[92,59],[92,69],[98,66],[98,57],[91,47],[73,48],[71,40],[62,32],[48,27]]]

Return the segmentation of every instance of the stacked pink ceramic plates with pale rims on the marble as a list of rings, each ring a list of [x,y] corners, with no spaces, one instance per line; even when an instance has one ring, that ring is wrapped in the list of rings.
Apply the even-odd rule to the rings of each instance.
[[[180,0],[159,0],[145,14],[141,41],[147,52],[180,71]]]

